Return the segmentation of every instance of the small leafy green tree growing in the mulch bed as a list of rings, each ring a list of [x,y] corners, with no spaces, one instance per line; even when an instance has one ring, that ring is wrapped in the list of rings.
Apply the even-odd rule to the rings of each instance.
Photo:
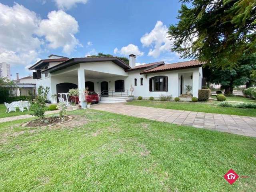
[[[45,115],[45,100],[47,99],[48,92],[50,91],[50,88],[46,86],[45,88],[43,86],[38,87],[38,101],[31,104],[31,112],[30,115],[36,116],[37,118],[40,118],[42,120]]]

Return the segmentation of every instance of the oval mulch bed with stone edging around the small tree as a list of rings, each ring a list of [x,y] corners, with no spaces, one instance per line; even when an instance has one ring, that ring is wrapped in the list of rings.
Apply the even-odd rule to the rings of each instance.
[[[58,124],[58,123],[64,123],[64,122],[68,121],[69,119],[70,119],[69,116],[65,116],[63,118],[47,117],[47,118],[44,118],[43,120],[40,120],[40,119],[32,120],[32,121],[26,123],[25,126],[27,126],[27,127],[48,126],[48,125],[54,125],[54,124]]]

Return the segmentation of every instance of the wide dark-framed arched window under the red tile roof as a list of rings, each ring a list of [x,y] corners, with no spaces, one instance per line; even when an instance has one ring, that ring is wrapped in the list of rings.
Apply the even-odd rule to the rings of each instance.
[[[168,77],[155,76],[150,78],[149,91],[168,91]]]

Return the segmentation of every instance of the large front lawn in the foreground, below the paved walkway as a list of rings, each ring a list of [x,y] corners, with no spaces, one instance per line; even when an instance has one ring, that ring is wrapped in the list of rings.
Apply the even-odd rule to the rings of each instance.
[[[63,127],[0,124],[0,191],[256,191],[256,138],[96,110],[70,114],[76,121]],[[231,168],[240,176],[233,185],[223,178]]]

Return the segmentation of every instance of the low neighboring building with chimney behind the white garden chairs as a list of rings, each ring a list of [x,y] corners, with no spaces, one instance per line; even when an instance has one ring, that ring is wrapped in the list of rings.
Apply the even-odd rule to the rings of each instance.
[[[16,74],[17,78],[14,80],[17,87],[12,93],[14,96],[29,96],[36,95],[36,79],[32,76],[26,76],[19,78],[19,74]]]

